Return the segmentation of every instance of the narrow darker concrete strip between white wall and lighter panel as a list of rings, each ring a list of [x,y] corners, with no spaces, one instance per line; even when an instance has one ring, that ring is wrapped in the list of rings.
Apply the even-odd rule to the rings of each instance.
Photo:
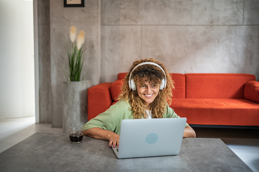
[[[38,1],[39,121],[51,123],[49,0]]]

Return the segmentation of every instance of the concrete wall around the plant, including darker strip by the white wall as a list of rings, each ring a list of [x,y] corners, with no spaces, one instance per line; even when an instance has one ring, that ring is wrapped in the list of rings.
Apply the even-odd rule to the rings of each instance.
[[[63,68],[68,68],[66,39],[71,25],[85,31],[85,80],[100,83],[100,1],[87,0],[84,8],[64,8],[64,1],[38,1],[40,122],[62,127]]]

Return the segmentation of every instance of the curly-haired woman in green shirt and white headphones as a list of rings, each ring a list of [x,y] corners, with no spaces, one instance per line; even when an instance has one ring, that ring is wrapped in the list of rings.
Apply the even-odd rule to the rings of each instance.
[[[109,147],[119,147],[123,119],[180,118],[168,106],[174,88],[162,63],[152,58],[136,60],[126,75],[119,101],[84,124],[83,133],[108,140]],[[195,136],[195,131],[186,123],[183,137]]]

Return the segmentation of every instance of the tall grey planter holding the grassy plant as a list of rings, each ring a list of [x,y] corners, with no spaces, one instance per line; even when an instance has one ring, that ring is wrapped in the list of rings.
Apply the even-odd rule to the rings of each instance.
[[[91,86],[92,81],[63,82],[63,133],[88,121],[87,91]]]

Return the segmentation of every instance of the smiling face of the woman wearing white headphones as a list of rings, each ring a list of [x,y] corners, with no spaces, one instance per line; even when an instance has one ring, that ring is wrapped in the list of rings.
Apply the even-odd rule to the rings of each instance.
[[[159,83],[144,81],[137,85],[137,94],[143,100],[144,105],[149,106],[157,97],[159,92]]]

